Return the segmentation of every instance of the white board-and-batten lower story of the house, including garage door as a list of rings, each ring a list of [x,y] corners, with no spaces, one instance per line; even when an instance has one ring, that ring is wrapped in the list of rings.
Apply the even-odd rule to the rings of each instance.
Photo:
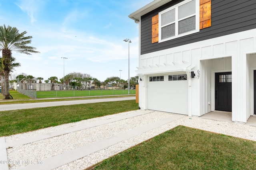
[[[142,109],[201,116],[215,109],[215,73],[231,71],[232,121],[246,122],[253,114],[252,78],[253,70],[256,70],[253,64],[256,63],[255,32],[256,29],[251,29],[140,55],[139,67],[145,68],[145,74],[139,85],[140,101],[143,101],[139,106]],[[159,71],[164,63],[182,66],[183,61],[194,66],[191,71],[194,71],[196,76],[190,83],[169,82],[168,74],[172,72]],[[148,71],[154,69],[155,74]],[[160,74],[164,74],[164,82],[149,82],[149,76]]]

